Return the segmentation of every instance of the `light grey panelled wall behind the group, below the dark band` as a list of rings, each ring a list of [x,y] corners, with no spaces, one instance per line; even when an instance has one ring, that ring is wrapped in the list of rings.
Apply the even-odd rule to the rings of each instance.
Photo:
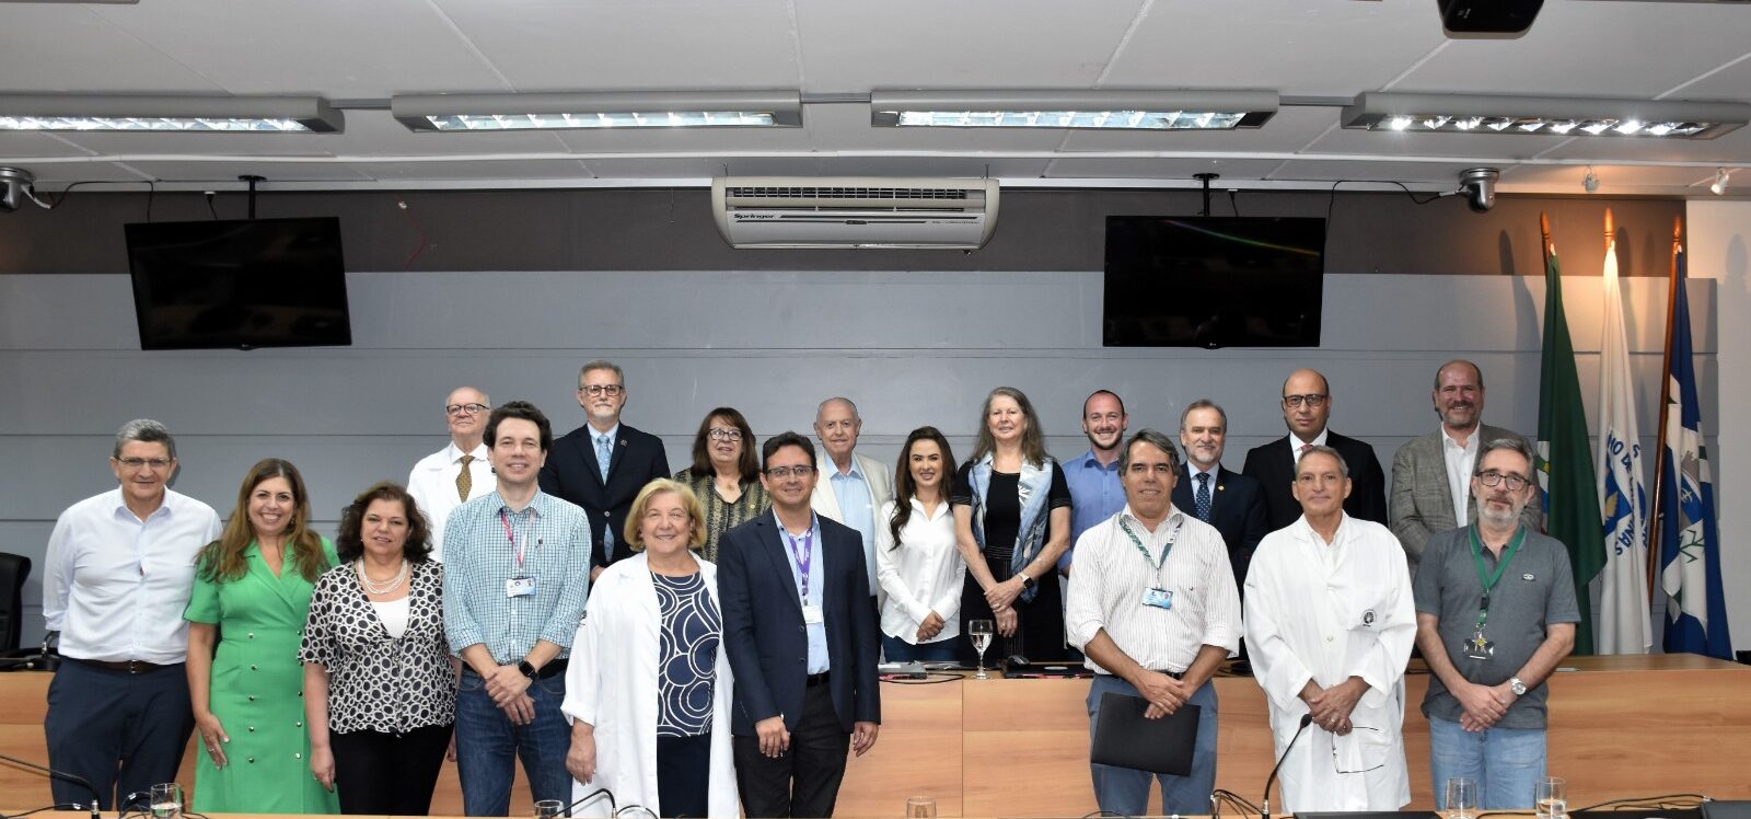
[[[1691,298],[1702,401],[1718,406],[1711,285]],[[147,354],[126,276],[0,276],[0,550],[40,560],[56,514],[114,485],[105,458],[135,416],[177,434],[179,492],[228,514],[247,467],[280,455],[327,528],[352,494],[404,480],[443,444],[452,387],[531,399],[569,430],[576,368],[599,355],[627,369],[627,422],[662,436],[676,467],[713,406],[741,408],[763,438],[807,430],[833,394],[858,401],[863,444],[883,458],[923,424],[965,457],[996,385],[1030,394],[1058,457],[1086,450],[1079,413],[1094,388],[1126,399],[1133,430],[1173,430],[1180,408],[1212,397],[1229,410],[1238,467],[1283,432],[1282,378],[1315,366],[1333,382],[1333,429],[1371,441],[1390,469],[1401,443],[1434,429],[1429,385],[1455,355],[1483,366],[1492,424],[1530,434],[1537,418],[1544,284],[1527,276],[1334,273],[1322,348],[1213,352],[1101,348],[1094,271],[354,273],[348,289],[350,348]],[[1564,292],[1592,401],[1599,271],[1569,270]],[[1653,385],[1665,282],[1630,278],[1625,292],[1635,369]],[[1639,401],[1646,446],[1655,397]],[[35,604],[40,583],[26,595]],[[30,618],[26,642],[42,630]]]

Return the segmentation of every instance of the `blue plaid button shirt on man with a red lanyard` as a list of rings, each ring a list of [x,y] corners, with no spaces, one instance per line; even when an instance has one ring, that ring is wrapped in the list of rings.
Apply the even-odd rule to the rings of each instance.
[[[522,567],[517,544],[524,544]],[[546,492],[522,513],[497,492],[450,513],[443,532],[443,625],[450,651],[485,644],[499,665],[548,640],[567,656],[590,593],[590,520]],[[534,593],[510,597],[511,578],[532,578]]]

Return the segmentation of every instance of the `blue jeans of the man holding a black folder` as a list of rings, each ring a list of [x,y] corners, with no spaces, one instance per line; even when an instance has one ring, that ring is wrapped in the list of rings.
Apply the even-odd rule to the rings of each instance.
[[[1107,691],[1136,696],[1136,688],[1110,674],[1094,676],[1089,686],[1089,737],[1100,719],[1100,698]],[[1094,802],[1101,810],[1124,816],[1149,816],[1149,780],[1161,782],[1161,816],[1210,812],[1210,791],[1215,789],[1215,686],[1205,682],[1191,698],[1203,709],[1198,716],[1198,744],[1192,747],[1192,770],[1184,777],[1150,774],[1147,770],[1089,765],[1094,775]]]

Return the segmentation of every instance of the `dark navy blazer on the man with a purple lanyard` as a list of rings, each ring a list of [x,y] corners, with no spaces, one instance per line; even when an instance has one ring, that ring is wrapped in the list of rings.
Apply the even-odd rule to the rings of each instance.
[[[828,690],[839,724],[881,723],[876,682],[876,606],[863,567],[863,536],[828,518],[821,522],[821,612],[826,618]],[[802,598],[790,579],[790,550],[772,513],[723,534],[718,542],[718,606],[723,651],[735,674],[730,732],[753,737],[755,723],[784,716],[795,732],[809,676],[809,637]]]

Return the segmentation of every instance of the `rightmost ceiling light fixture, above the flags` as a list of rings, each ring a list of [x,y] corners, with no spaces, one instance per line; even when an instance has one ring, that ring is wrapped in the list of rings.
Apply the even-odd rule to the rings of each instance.
[[[1401,94],[1368,91],[1343,126],[1369,131],[1555,133],[1712,140],[1751,122],[1735,102],[1585,100],[1565,96]],[[1478,126],[1485,128],[1480,130]]]

